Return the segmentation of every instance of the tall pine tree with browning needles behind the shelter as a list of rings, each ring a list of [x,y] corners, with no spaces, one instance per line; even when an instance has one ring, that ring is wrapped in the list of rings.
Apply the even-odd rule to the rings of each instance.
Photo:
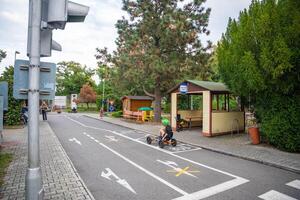
[[[207,30],[210,9],[204,0],[179,5],[179,0],[123,0],[130,17],[116,24],[118,39],[113,63],[122,80],[155,97],[155,121],[160,121],[161,99],[179,80],[195,77],[206,63],[210,47],[200,34]]]

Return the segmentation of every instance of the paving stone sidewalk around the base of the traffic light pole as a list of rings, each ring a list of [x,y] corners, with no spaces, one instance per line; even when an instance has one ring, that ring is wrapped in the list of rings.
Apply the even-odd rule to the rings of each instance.
[[[0,199],[25,199],[27,128],[4,130],[5,152],[14,154]],[[40,122],[40,156],[44,199],[90,199],[91,195],[47,122]]]

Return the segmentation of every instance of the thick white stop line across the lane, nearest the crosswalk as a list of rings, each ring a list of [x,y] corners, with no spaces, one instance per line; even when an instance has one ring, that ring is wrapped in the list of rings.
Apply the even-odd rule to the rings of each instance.
[[[247,183],[248,180],[244,178],[236,178],[230,181],[226,181],[224,183],[200,190],[198,192],[194,192],[188,195],[184,195],[182,197],[175,198],[173,200],[199,200],[210,197],[212,195],[224,192],[226,190],[232,189],[244,183]]]

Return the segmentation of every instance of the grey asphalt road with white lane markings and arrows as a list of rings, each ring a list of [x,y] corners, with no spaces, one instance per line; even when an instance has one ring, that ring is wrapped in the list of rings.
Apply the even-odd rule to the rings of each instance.
[[[95,199],[300,199],[300,174],[189,144],[160,149],[80,114],[48,121]]]

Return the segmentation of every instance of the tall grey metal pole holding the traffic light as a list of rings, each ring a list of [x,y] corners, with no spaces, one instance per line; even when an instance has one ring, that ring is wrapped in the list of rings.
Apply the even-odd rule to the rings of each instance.
[[[43,199],[42,172],[39,154],[39,74],[40,29],[42,0],[29,0],[29,28],[31,48],[28,91],[28,168],[26,172],[26,199]],[[29,31],[30,33],[30,31]]]

